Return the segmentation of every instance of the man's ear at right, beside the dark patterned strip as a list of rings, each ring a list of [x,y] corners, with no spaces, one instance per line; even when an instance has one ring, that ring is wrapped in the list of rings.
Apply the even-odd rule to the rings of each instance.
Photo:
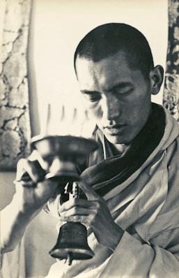
[[[162,65],[157,65],[156,67],[153,68],[153,70],[150,70],[150,82],[151,82],[152,95],[157,95],[162,85],[163,79],[164,79],[164,69]]]

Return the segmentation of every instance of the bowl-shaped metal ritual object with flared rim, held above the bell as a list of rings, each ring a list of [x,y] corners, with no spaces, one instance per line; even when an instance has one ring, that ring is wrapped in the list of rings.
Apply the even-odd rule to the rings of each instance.
[[[77,136],[34,136],[31,146],[48,164],[45,179],[69,182],[79,180],[76,165],[83,163],[88,154],[98,148],[98,143]]]

